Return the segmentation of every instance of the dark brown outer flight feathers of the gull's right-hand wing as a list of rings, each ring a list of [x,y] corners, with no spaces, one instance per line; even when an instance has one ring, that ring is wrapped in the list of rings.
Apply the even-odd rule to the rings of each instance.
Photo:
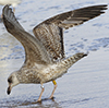
[[[43,23],[55,23],[57,26],[60,26],[62,28],[69,28],[99,16],[100,14],[105,13],[104,10],[107,10],[107,4],[81,8],[74,11],[69,11],[56,15]]]

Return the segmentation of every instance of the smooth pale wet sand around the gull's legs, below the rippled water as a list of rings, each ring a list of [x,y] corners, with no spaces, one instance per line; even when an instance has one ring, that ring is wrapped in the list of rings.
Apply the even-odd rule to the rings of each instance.
[[[19,85],[7,95],[7,77],[21,67],[23,59],[1,61],[0,73],[0,108],[2,107],[40,107],[40,108],[100,108],[109,106],[109,49],[100,49],[75,63],[65,75],[57,80],[58,88],[55,100],[47,99],[53,88],[51,83],[45,84],[41,104],[36,100],[40,86],[35,84]],[[15,63],[16,62],[16,63]],[[13,67],[12,67],[12,63]],[[86,106],[86,107],[85,107]],[[106,107],[108,108],[108,107]]]

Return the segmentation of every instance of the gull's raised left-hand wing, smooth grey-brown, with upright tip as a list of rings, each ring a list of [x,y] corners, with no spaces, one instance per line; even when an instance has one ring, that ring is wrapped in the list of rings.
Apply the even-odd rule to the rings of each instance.
[[[16,21],[12,9],[5,5],[2,11],[3,23],[10,34],[12,34],[25,49],[25,63],[32,65],[33,63],[47,64],[50,63],[49,56],[43,44],[24,31],[24,28]]]

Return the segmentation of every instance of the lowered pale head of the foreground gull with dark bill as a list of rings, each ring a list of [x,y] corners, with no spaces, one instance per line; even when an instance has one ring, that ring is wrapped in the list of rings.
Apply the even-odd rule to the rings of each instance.
[[[8,95],[10,95],[11,91],[12,91],[12,87],[17,85],[20,82],[16,77],[16,74],[15,72],[13,72],[9,77],[8,77],[8,83],[9,83],[9,87],[8,87]]]

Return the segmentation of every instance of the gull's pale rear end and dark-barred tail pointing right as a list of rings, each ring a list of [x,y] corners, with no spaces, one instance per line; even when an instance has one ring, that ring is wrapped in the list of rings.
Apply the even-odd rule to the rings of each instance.
[[[66,73],[68,69],[73,65],[75,62],[77,62],[78,60],[81,60],[82,58],[86,57],[88,53],[84,53],[84,52],[78,52],[72,57],[69,57],[64,60],[61,60],[59,62],[56,63],[56,68],[51,70],[51,72],[49,72],[50,75],[50,81],[56,80],[60,76],[62,76],[64,73]],[[55,71],[53,71],[55,70]]]

